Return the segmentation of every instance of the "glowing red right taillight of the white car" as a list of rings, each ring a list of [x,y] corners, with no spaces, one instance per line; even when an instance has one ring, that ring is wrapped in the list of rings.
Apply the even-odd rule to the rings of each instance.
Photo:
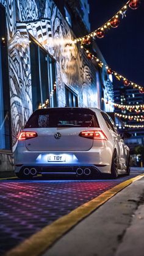
[[[87,139],[99,139],[101,141],[107,141],[107,137],[103,131],[81,131],[79,136],[85,137]]]

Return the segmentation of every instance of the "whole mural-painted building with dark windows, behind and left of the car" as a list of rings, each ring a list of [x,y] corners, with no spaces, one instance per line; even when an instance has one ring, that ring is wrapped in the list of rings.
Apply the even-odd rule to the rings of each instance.
[[[0,0],[0,170],[13,169],[18,134],[37,108],[113,111],[112,79],[74,38],[90,31],[87,0]],[[96,54],[100,54],[95,46]]]

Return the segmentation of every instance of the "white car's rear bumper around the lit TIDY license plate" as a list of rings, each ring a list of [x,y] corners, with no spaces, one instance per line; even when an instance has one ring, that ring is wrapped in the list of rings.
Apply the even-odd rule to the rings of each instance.
[[[63,161],[52,161],[51,156],[62,156]],[[50,157],[50,161],[49,161]],[[15,173],[23,171],[24,167],[37,169],[37,174],[61,172],[76,173],[77,168],[89,167],[96,173],[110,174],[112,152],[106,148],[89,150],[88,152],[21,152],[15,153]]]

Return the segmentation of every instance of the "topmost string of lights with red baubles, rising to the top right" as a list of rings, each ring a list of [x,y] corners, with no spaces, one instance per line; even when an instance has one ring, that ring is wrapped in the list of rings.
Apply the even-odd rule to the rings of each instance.
[[[118,27],[120,23],[120,18],[126,16],[126,10],[128,9],[128,7],[134,10],[139,7],[139,4],[139,0],[129,0],[128,2],[126,2],[126,4],[123,5],[123,7],[121,7],[120,10],[118,10],[117,13],[115,13],[115,15],[112,16],[112,18],[110,18],[110,20],[106,21],[106,23],[104,23],[101,27],[98,27],[98,29],[96,29],[95,31],[90,32],[90,34],[85,35],[85,37],[75,38],[74,42],[77,43],[81,41],[83,44],[90,44],[92,42],[92,38],[95,36],[98,38],[103,38],[105,32],[110,29],[110,27]]]

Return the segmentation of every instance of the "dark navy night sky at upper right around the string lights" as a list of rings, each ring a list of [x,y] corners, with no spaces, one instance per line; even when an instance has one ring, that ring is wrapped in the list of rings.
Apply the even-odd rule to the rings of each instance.
[[[126,4],[126,0],[89,0],[91,31],[95,31]],[[144,0],[136,10],[128,8],[117,28],[96,39],[107,64],[144,87]]]

